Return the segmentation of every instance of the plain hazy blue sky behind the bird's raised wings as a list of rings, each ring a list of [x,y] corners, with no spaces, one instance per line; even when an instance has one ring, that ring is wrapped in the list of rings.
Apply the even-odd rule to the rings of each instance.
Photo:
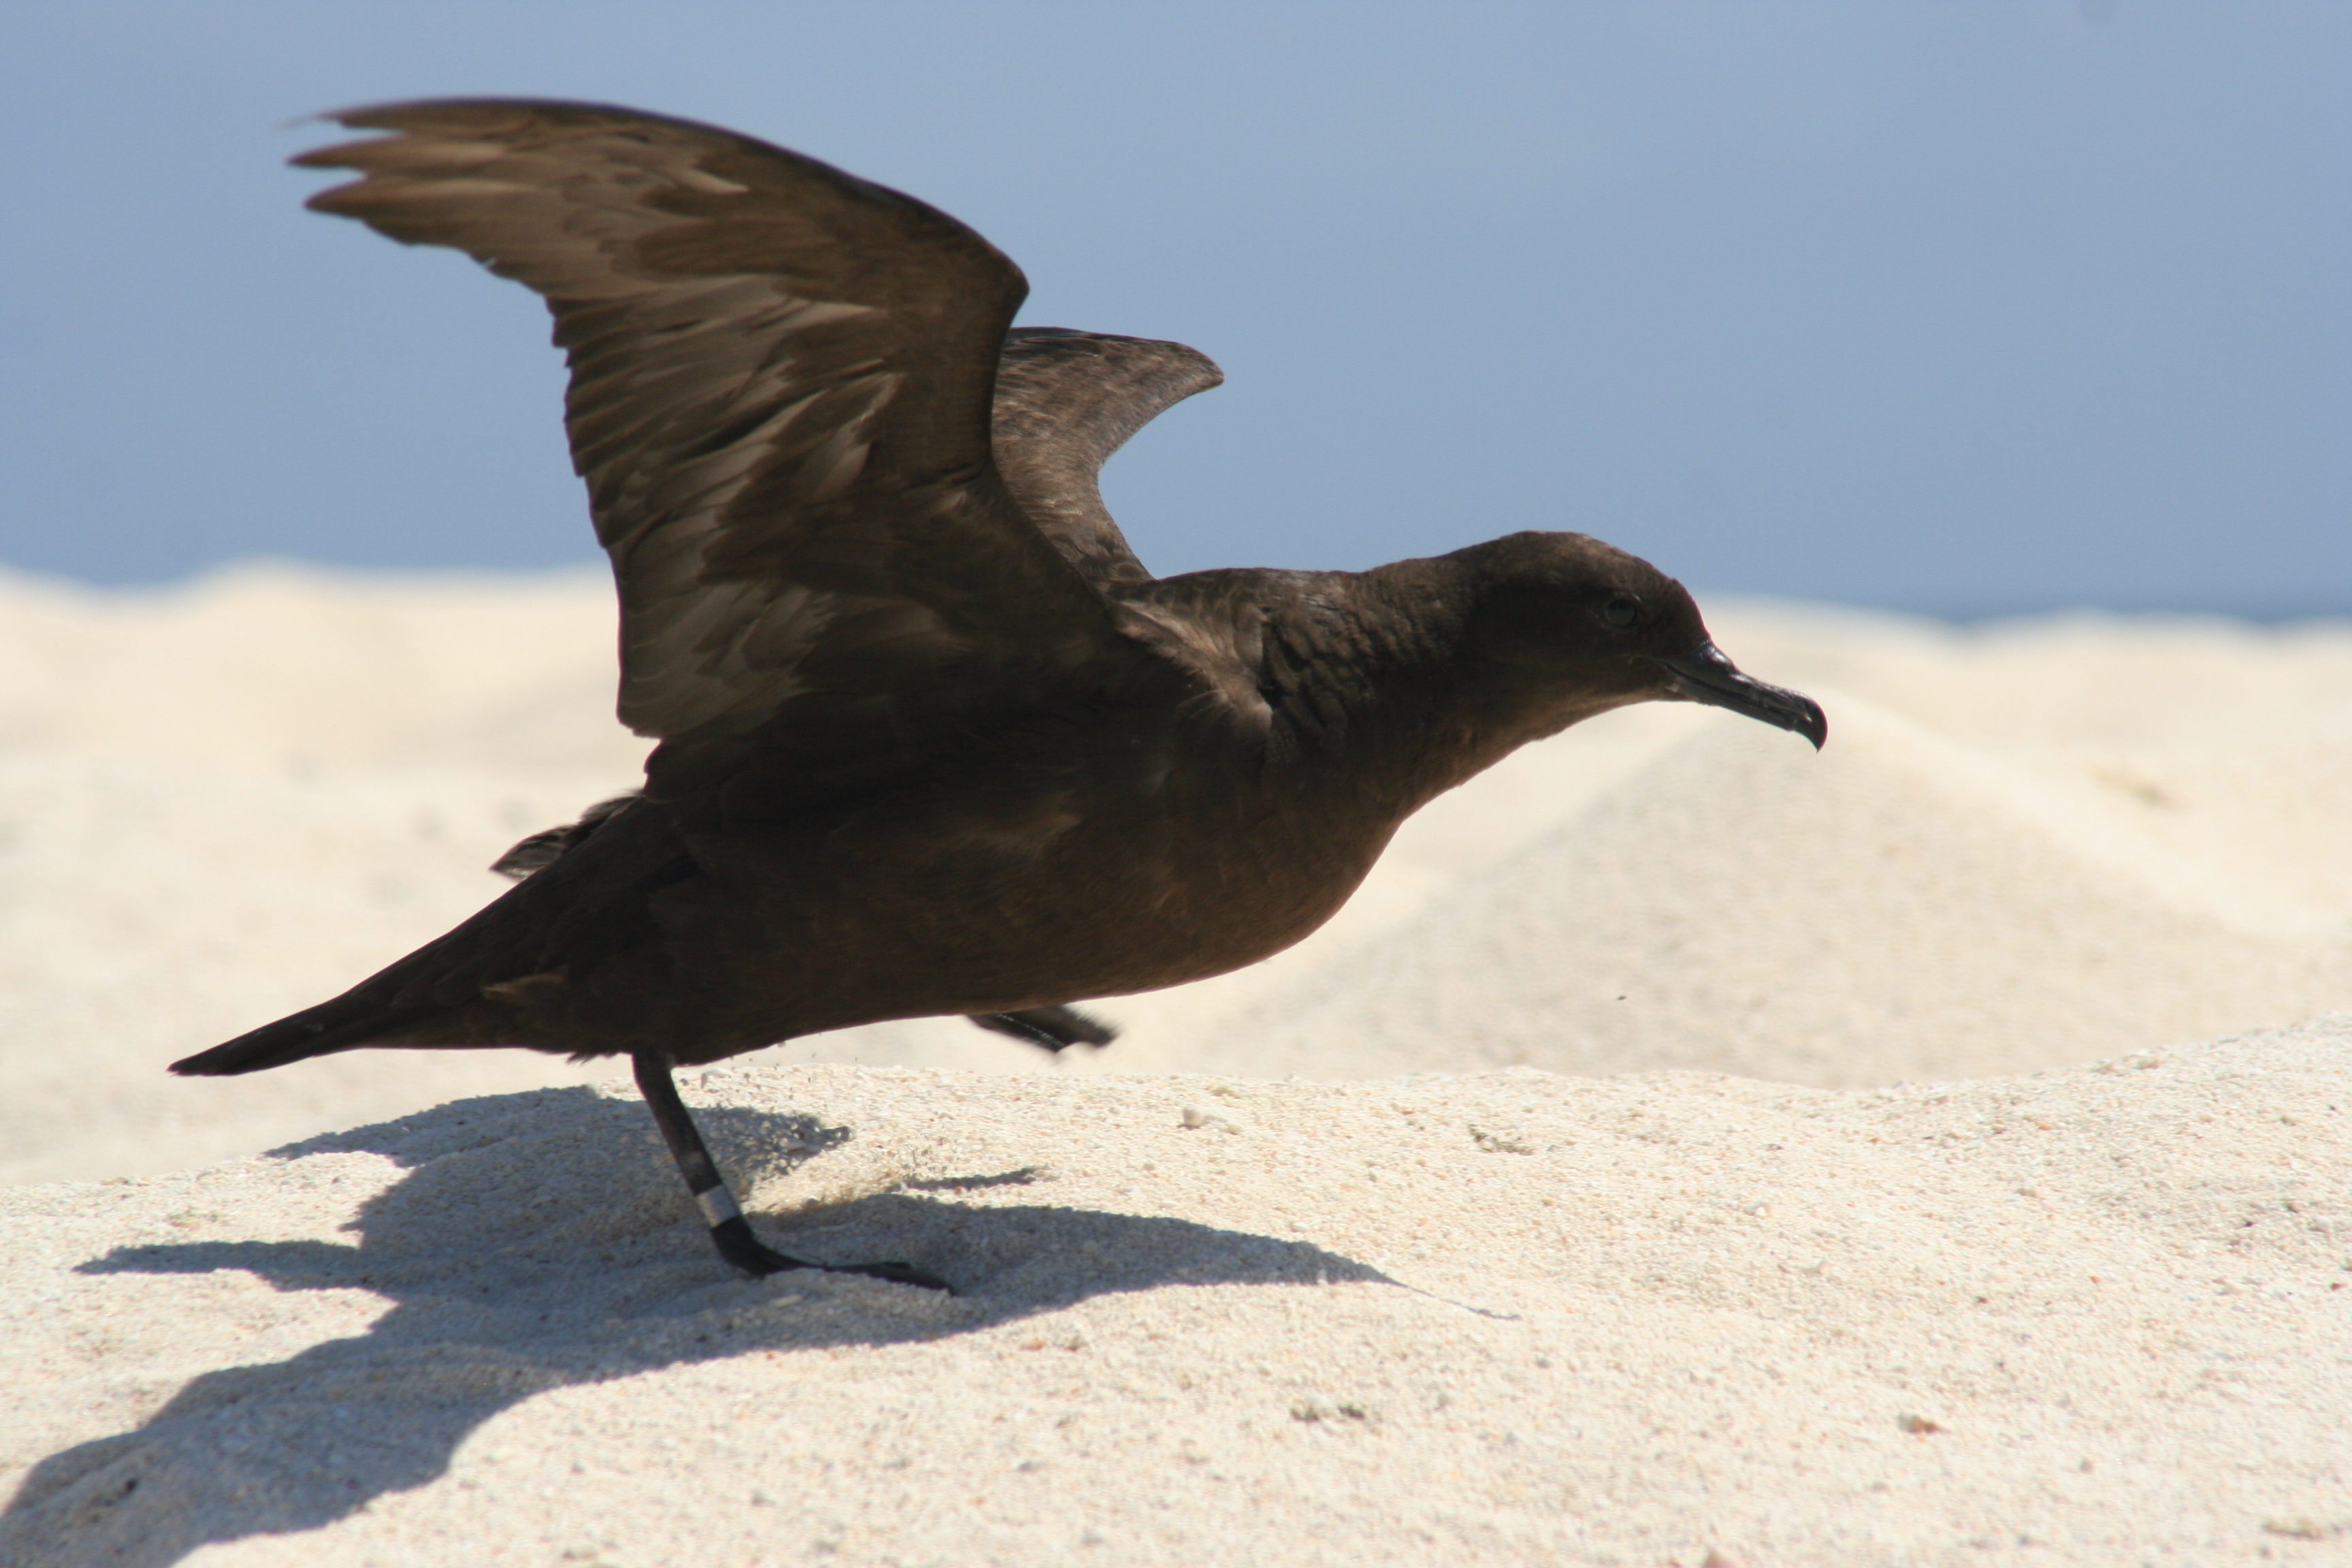
[[[2352,614],[2352,7],[14,5],[0,564],[593,559],[524,292],[301,212],[348,103],[779,141],[1228,386],[1160,571],[1583,529],[1700,590]]]

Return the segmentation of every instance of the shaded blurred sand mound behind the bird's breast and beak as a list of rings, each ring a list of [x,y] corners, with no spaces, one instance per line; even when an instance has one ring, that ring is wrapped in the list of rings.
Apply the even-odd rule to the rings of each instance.
[[[2347,999],[2340,931],[2249,929],[2147,844],[1860,698],[1818,762],[1710,726],[1268,999],[1327,1074],[1696,1067],[1816,1086],[2030,1072]],[[1762,745],[1759,745],[1762,741]],[[2122,792],[2096,827],[2161,806]],[[1256,1046],[1251,1046],[1256,1048]],[[1218,1070],[1244,1072],[1230,1037]]]

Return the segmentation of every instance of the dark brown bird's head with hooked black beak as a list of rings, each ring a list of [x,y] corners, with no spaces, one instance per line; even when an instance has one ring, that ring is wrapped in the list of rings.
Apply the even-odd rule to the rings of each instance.
[[[1463,649],[1498,717],[1536,738],[1611,708],[1710,703],[1828,738],[1820,703],[1743,675],[1698,604],[1656,567],[1585,534],[1510,534],[1444,557],[1468,585]]]

